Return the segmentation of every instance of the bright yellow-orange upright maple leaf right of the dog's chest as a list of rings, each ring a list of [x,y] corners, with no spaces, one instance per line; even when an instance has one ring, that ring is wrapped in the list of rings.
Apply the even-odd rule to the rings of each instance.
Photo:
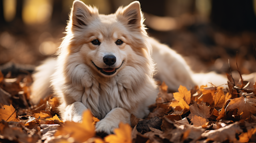
[[[191,93],[190,90],[186,89],[185,86],[181,86],[178,89],[179,92],[173,93],[173,97],[175,100],[180,101],[181,99],[184,99],[186,103],[189,105],[191,100]]]

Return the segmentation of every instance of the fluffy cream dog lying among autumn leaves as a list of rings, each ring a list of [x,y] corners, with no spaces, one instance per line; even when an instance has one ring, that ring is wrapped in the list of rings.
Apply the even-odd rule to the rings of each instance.
[[[96,132],[111,134],[120,122],[130,124],[131,114],[148,115],[155,79],[172,91],[197,85],[183,57],[148,37],[143,21],[138,1],[109,15],[74,1],[57,60],[47,59],[33,74],[32,103],[52,92],[64,121],[80,122],[90,109],[100,120]]]

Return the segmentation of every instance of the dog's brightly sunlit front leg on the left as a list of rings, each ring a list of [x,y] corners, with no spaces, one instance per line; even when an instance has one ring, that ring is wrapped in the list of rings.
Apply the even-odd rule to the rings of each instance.
[[[81,122],[83,112],[87,110],[81,102],[74,102],[66,107],[64,121]]]

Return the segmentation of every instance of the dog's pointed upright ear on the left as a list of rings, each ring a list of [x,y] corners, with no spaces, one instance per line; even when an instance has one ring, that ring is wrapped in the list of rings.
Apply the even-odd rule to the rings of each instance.
[[[70,15],[72,29],[83,28],[98,14],[98,9],[87,6],[80,0],[75,0]]]

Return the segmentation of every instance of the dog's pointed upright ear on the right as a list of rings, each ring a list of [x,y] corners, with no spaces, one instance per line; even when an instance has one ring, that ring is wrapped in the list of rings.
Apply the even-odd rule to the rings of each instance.
[[[134,1],[123,8],[122,11],[117,10],[116,12],[125,17],[129,27],[140,28],[143,25],[143,14],[140,10],[139,1]]]

